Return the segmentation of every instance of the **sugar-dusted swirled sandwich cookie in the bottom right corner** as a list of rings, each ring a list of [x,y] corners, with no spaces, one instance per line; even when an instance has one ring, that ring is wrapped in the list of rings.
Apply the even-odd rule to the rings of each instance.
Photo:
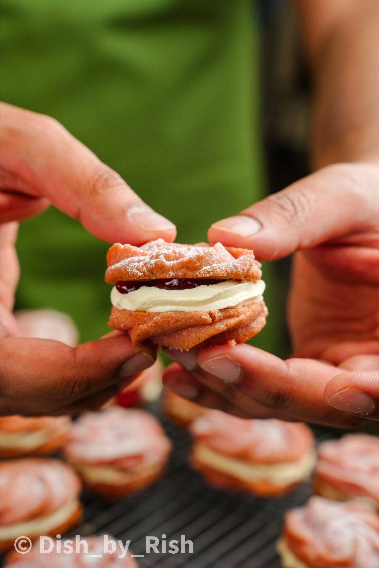
[[[379,517],[359,503],[312,497],[285,516],[278,551],[283,568],[378,568]]]

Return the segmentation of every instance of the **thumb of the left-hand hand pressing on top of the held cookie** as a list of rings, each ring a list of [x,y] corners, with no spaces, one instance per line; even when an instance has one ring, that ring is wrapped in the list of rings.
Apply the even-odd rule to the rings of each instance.
[[[56,120],[3,104],[1,144],[7,209],[11,195],[19,201],[21,193],[24,201],[31,196],[47,198],[109,243],[174,240],[173,223],[147,206]],[[20,203],[14,205],[27,216]]]

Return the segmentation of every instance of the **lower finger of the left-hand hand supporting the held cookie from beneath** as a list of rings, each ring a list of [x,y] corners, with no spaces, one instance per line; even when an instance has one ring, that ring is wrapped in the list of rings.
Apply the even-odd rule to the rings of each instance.
[[[1,359],[2,414],[32,416],[74,414],[97,404],[98,395],[109,399],[151,366],[156,352],[111,332],[74,348],[51,339],[5,337]]]

